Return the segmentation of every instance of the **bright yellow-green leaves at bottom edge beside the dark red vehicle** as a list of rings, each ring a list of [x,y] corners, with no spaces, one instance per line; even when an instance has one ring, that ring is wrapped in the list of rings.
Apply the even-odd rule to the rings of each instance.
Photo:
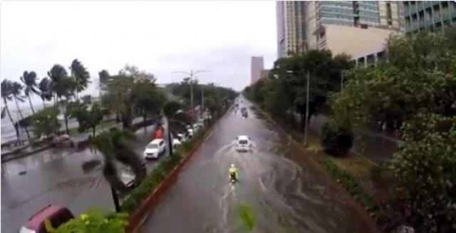
[[[48,220],[45,225],[49,233],[123,233],[128,224],[127,217],[124,213],[103,214],[98,210],[91,210],[57,229],[54,229]]]

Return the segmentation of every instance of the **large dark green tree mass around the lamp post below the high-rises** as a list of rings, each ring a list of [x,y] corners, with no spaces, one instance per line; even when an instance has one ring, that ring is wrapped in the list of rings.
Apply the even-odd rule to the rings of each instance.
[[[353,66],[345,54],[309,51],[274,63],[269,77],[245,90],[247,97],[276,118],[295,111],[301,115],[301,129],[312,115],[323,112],[328,95],[341,89],[341,73]],[[309,119],[305,118],[309,75]]]

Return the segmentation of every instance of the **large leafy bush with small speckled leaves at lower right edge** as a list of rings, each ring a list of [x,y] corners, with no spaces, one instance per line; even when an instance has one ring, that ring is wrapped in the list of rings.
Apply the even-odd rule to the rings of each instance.
[[[456,117],[418,115],[401,138],[392,168],[411,222],[423,232],[455,232]]]

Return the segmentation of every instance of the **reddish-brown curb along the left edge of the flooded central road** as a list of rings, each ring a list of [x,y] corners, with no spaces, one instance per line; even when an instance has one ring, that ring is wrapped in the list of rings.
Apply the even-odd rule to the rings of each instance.
[[[176,182],[177,176],[180,174],[180,171],[187,165],[187,162],[190,161],[190,158],[195,155],[195,152],[199,150],[199,147],[201,147],[202,143],[210,136],[212,135],[212,132],[222,118],[224,118],[227,113],[229,113],[229,109],[227,109],[227,112],[220,117],[216,123],[214,123],[209,130],[204,133],[204,136],[197,141],[194,147],[192,147],[192,150],[190,152],[187,152],[186,155],[182,157],[180,162],[174,167],[169,174],[166,175],[166,177],[160,182],[157,187],[150,193],[148,197],[145,198],[145,200],[142,201],[142,204],[138,209],[133,212],[133,214],[130,214],[128,217],[128,225],[125,227],[125,232],[128,233],[136,233],[138,232],[138,229],[142,227],[142,224],[144,224],[145,220],[147,220],[147,217],[150,216],[150,214],[153,212],[153,209],[157,205],[157,203],[160,200],[160,197]]]

